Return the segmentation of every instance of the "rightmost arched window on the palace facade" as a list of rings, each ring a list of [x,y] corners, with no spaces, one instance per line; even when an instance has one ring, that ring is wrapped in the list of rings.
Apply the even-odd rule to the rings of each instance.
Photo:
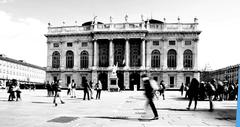
[[[183,53],[183,66],[192,68],[193,54],[191,50],[185,50]]]

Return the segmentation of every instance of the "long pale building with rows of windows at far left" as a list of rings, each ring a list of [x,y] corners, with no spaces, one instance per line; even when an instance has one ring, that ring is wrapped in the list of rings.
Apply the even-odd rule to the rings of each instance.
[[[22,60],[8,58],[0,55],[0,82],[16,79],[20,83],[44,83],[46,79],[46,69]]]

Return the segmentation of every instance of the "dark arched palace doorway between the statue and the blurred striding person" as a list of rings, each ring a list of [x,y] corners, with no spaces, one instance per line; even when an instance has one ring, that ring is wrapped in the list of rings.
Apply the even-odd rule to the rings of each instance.
[[[130,90],[134,90],[134,85],[137,85],[137,90],[140,89],[140,73],[133,72],[130,74]]]

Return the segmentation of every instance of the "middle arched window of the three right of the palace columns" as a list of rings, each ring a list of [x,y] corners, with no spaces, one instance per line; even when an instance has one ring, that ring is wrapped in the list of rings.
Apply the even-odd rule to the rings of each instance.
[[[168,67],[177,67],[177,52],[174,49],[168,51],[167,65]]]

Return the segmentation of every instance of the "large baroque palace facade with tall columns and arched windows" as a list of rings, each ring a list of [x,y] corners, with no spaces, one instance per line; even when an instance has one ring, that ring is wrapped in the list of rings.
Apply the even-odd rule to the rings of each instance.
[[[117,65],[120,89],[144,89],[140,76],[149,74],[168,88],[179,88],[200,78],[198,41],[201,31],[193,23],[166,23],[150,19],[139,23],[101,23],[53,27],[47,37],[47,81],[72,79],[82,88],[83,79],[101,80],[110,87],[112,67]]]

